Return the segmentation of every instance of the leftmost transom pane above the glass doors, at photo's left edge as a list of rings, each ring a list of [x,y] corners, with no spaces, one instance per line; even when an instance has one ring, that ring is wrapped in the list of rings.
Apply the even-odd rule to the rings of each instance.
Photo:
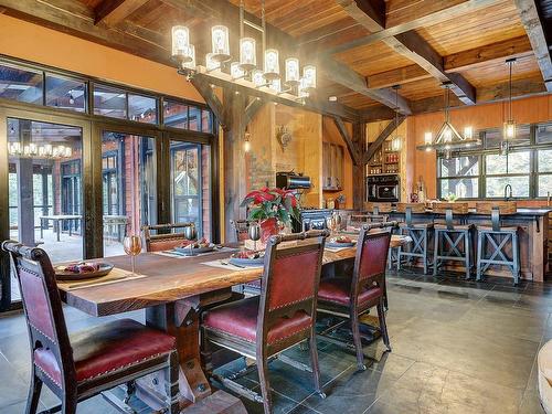
[[[0,98],[42,105],[42,72],[0,64]]]

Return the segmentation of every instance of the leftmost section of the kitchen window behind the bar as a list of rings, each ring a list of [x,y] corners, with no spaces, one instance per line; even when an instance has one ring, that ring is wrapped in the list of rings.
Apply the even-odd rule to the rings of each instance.
[[[479,157],[440,159],[440,194],[455,194],[460,199],[474,199],[479,193]]]

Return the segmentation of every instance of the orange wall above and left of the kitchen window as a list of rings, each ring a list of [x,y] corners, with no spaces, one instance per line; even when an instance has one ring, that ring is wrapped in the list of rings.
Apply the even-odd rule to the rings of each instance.
[[[475,130],[501,127],[506,120],[507,103],[497,103],[479,106],[470,106],[450,112],[452,124],[464,130],[465,126],[473,126]],[[513,102],[513,117],[518,124],[534,124],[552,120],[552,95],[539,96]],[[435,151],[425,152],[416,150],[416,146],[424,141],[424,134],[433,131],[436,134],[443,125],[443,113],[416,115],[407,119],[408,151],[407,176],[413,182],[420,177],[426,187],[427,198],[436,197],[437,167]],[[407,189],[410,192],[411,188]]]

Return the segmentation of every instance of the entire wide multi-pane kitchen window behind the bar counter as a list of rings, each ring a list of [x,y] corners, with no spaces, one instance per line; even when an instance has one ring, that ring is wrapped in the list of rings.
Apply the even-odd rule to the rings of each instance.
[[[480,136],[480,148],[438,158],[438,197],[453,193],[460,199],[501,199],[507,185],[519,199],[552,193],[551,125],[520,126],[508,155],[500,151],[498,129],[481,131]]]

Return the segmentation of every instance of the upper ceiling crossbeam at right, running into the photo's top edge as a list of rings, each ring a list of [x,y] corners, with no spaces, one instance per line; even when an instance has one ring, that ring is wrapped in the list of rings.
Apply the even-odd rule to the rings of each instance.
[[[346,1],[346,0],[338,0]],[[357,39],[347,43],[342,43],[336,47],[328,50],[328,54],[337,54],[347,52],[351,49],[365,46],[368,44],[376,43],[383,39],[394,36],[400,33],[405,33],[411,30],[420,29],[423,26],[434,25],[442,23],[446,20],[450,20],[468,12],[484,9],[486,7],[497,3],[498,0],[442,0],[438,1],[439,8],[434,9],[421,9],[421,14],[410,21],[401,22],[394,26],[382,28],[379,31],[371,31],[372,34]],[[370,30],[370,29],[369,29]]]

